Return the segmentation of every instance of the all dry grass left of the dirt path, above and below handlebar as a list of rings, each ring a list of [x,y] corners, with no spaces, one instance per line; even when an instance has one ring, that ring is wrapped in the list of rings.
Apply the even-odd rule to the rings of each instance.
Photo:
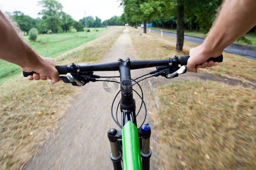
[[[113,26],[89,42],[90,47],[57,56],[56,65],[100,60],[124,28]],[[80,88],[71,84],[29,81],[22,75],[0,84],[0,170],[19,169],[29,160],[56,122],[65,119],[65,110],[78,93]]]

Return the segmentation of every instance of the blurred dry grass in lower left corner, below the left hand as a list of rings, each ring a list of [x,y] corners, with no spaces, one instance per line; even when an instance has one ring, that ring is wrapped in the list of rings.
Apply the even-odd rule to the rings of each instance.
[[[73,92],[67,85],[21,77],[1,85],[1,169],[17,169],[30,158],[37,143],[64,115],[62,105],[69,106]]]

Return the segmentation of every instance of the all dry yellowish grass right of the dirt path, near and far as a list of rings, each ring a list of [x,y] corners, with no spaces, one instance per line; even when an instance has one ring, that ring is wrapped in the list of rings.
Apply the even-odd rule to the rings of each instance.
[[[143,60],[188,55],[195,43],[157,33],[140,35],[129,28],[136,54]],[[255,60],[224,53],[224,62],[209,70],[256,80]],[[247,69],[248,67],[248,69]],[[198,69],[198,71],[203,72]],[[153,116],[159,169],[254,169],[256,92],[215,81],[174,81],[155,88],[160,110]]]

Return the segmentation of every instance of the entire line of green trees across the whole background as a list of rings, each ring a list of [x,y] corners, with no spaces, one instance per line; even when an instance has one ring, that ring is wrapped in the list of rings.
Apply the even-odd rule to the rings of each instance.
[[[21,11],[14,11],[12,15],[19,24],[24,35],[31,28],[35,27],[41,33],[67,32],[72,26],[77,31],[83,31],[87,27],[103,27],[107,25],[129,25],[137,28],[137,25],[144,24],[146,33],[146,23],[155,26],[177,29],[176,49],[182,50],[184,41],[184,30],[195,29],[205,33],[210,30],[215,13],[222,0],[119,0],[123,6],[122,16],[113,16],[108,20],[102,20],[97,16],[85,17],[79,22],[73,20],[71,15],[62,11],[62,5],[57,0],[41,0],[39,5],[42,10],[38,13],[41,18],[31,18]],[[254,27],[256,32],[256,27]]]

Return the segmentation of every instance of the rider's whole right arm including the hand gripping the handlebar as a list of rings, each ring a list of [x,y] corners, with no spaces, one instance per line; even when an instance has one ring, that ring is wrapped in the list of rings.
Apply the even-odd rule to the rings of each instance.
[[[223,50],[256,25],[256,0],[225,0],[220,14],[215,20],[202,45],[189,51],[187,70],[218,65],[209,61],[218,57]]]

